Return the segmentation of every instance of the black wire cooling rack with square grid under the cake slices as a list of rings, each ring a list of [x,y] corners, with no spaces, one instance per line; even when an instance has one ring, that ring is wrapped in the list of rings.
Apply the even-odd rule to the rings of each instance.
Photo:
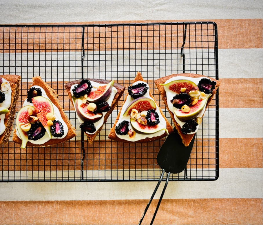
[[[77,136],[51,147],[21,149],[12,142],[11,133],[10,142],[0,146],[0,181],[159,180],[161,170],[156,156],[165,139],[145,144],[108,139],[124,96],[94,143],[88,144],[64,88],[68,81],[83,77],[114,80],[127,88],[137,71],[142,72],[172,124],[154,80],[184,72],[218,79],[216,24],[1,25],[0,74],[22,77],[16,112],[26,99],[31,78],[41,76],[58,92]],[[187,168],[170,180],[217,179],[218,141],[217,94],[205,112]]]

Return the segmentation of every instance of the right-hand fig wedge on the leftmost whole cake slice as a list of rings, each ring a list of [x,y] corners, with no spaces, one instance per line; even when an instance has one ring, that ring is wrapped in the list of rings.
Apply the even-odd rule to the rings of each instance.
[[[39,121],[41,122],[43,127],[46,129],[49,137],[52,138],[50,126],[48,126],[48,119],[46,118],[46,115],[49,112],[54,115],[54,108],[53,108],[52,102],[45,97],[36,96],[32,98],[32,103],[36,110],[36,115]]]

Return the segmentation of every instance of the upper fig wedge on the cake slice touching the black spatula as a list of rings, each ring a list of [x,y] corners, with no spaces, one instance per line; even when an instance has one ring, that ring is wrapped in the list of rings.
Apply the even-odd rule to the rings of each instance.
[[[194,87],[196,87],[196,84],[189,80],[175,80],[171,81],[167,84],[160,84],[162,86],[167,87],[169,90],[179,94],[181,93],[181,88],[186,88],[184,93],[189,93]]]

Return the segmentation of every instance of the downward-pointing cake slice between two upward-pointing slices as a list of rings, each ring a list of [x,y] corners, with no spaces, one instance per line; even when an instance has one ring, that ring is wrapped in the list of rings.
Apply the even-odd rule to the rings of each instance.
[[[103,124],[118,104],[125,87],[102,79],[81,79],[65,84],[76,116],[89,143],[100,133]]]

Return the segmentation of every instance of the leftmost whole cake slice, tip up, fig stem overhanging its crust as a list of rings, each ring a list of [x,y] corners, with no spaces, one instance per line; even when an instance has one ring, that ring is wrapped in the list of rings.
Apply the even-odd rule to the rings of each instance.
[[[50,146],[76,136],[58,95],[41,77],[33,77],[23,107],[16,118],[13,141],[26,146]]]

